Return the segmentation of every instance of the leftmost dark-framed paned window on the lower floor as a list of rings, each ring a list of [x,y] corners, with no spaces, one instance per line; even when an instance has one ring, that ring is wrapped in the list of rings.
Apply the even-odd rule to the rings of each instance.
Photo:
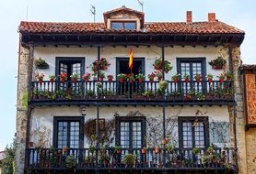
[[[83,147],[84,117],[54,117],[53,122],[54,147]]]

